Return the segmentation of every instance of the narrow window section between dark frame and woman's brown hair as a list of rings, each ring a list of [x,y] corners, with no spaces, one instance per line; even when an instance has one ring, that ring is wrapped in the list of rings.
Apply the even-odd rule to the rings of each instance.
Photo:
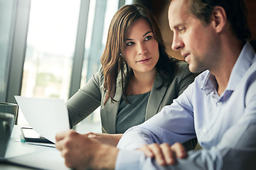
[[[100,57],[107,41],[110,21],[118,7],[118,0],[90,1],[80,88],[85,86],[100,68]],[[88,129],[92,132],[101,132],[100,107],[76,126],[78,132],[87,132]]]

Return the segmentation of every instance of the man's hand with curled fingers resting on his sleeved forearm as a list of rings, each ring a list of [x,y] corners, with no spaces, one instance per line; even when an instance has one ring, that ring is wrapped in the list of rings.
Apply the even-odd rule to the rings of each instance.
[[[163,143],[161,145],[151,144],[143,145],[139,148],[146,157],[155,158],[157,164],[161,166],[176,164],[176,158],[186,158],[186,149],[181,145],[181,143],[175,143],[170,145],[168,143]]]

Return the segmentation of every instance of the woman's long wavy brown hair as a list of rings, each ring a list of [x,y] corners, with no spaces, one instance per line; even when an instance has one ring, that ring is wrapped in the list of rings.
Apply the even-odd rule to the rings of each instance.
[[[126,98],[127,84],[133,72],[132,68],[129,67],[124,60],[124,57],[122,57],[122,51],[125,45],[124,38],[126,37],[128,29],[132,26],[132,23],[139,18],[144,18],[149,22],[154,37],[159,43],[159,60],[156,63],[156,69],[157,72],[161,74],[163,82],[161,86],[157,88],[160,89],[162,86],[168,86],[171,83],[171,75],[174,72],[177,60],[167,55],[164,40],[162,39],[156,18],[145,6],[140,4],[125,5],[119,8],[112,18],[107,34],[105,50],[100,58],[105,77],[104,88],[107,93],[104,105],[109,99],[111,99],[112,102],[115,101],[114,95],[116,94],[118,74],[120,74],[122,78],[122,96],[124,100]]]

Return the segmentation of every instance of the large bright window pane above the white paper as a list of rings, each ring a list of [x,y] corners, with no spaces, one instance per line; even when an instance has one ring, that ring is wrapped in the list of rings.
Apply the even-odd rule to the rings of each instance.
[[[31,1],[21,96],[68,99],[80,1]]]

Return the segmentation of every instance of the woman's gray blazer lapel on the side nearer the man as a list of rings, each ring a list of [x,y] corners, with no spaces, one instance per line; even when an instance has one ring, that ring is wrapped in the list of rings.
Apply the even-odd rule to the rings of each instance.
[[[161,89],[156,90],[157,87],[161,86],[162,81],[163,79],[160,77],[159,72],[157,72],[156,79],[154,80],[154,84],[149,96],[149,101],[146,106],[145,120],[148,120],[159,112],[161,101],[163,100],[167,90],[167,86],[162,86]]]

